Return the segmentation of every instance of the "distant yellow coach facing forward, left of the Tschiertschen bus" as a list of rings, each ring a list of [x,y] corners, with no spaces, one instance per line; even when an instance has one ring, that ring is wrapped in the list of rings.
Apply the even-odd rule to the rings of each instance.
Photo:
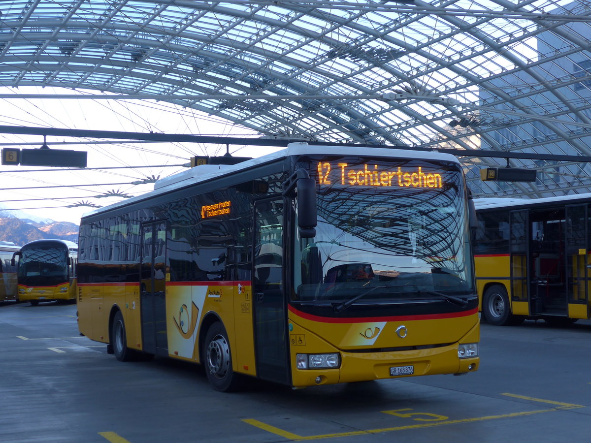
[[[33,240],[18,255],[18,298],[40,301],[76,300],[78,245],[68,240]]]

